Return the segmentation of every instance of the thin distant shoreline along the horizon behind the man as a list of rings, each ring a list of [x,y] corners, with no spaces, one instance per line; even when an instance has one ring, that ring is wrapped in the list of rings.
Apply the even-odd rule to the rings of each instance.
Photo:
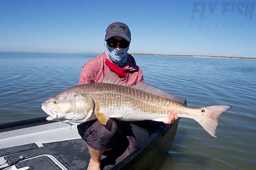
[[[0,51],[0,53],[63,53],[63,54],[101,54],[101,53],[76,53],[76,52],[31,52],[31,51]],[[172,55],[172,54],[143,54],[143,53],[129,53],[131,55],[141,56],[169,56],[169,57],[195,57],[195,58],[221,58],[221,59],[250,59],[251,57],[224,57],[224,56],[200,56],[200,55]]]

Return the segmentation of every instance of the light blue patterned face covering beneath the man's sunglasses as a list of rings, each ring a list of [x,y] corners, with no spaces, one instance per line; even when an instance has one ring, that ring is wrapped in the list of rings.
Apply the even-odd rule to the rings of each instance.
[[[128,57],[128,50],[130,45],[127,48],[116,49],[108,46],[108,43],[105,41],[104,43],[106,48],[106,53],[108,59],[110,59],[115,65],[122,66],[126,63]]]

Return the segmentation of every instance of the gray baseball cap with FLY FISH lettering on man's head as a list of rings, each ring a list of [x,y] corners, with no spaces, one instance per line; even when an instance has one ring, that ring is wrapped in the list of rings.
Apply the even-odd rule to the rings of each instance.
[[[116,22],[108,26],[105,33],[105,41],[113,36],[123,37],[126,41],[131,42],[131,32],[125,23]]]

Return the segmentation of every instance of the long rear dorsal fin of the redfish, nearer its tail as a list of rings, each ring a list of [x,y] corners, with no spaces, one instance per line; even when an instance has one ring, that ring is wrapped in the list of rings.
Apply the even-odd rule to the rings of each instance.
[[[167,92],[165,92],[165,91],[163,91],[159,88],[155,88],[155,87],[149,85],[148,83],[139,82],[136,85],[133,85],[131,87],[136,88],[136,89],[141,90],[141,91],[145,91],[145,92],[154,94],[154,95],[157,95],[157,96],[165,97],[165,98],[170,99],[174,102],[182,103],[184,105],[184,103],[181,102],[180,99],[178,99],[177,97],[172,96],[172,94],[169,94],[169,93],[167,93]]]

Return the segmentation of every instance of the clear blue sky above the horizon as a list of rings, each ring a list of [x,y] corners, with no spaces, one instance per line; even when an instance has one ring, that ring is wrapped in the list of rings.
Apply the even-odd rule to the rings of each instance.
[[[101,53],[119,21],[130,53],[256,57],[256,0],[225,2],[0,0],[0,51]]]

